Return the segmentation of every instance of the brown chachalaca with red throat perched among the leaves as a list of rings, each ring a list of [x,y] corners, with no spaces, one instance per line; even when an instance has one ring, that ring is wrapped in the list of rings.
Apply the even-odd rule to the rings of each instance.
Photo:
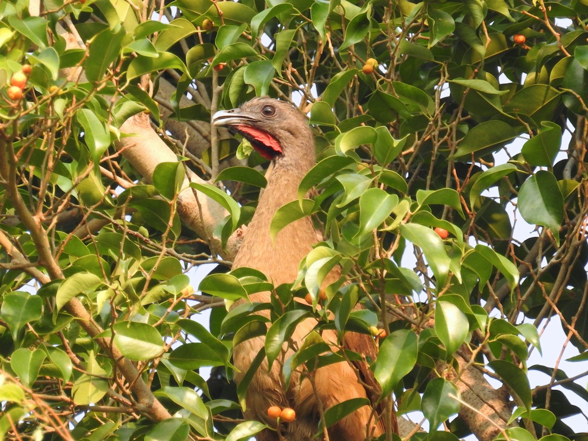
[[[312,250],[320,235],[312,220],[307,217],[290,223],[272,240],[270,222],[281,206],[298,198],[298,186],[302,178],[315,165],[315,143],[305,117],[289,103],[271,98],[254,98],[238,109],[215,113],[213,123],[228,126],[232,131],[240,133],[256,151],[271,161],[269,176],[266,175],[268,184],[233,261],[233,269],[245,266],[260,270],[275,286],[292,283],[298,275],[300,261]],[[269,302],[269,296],[269,292],[256,293],[249,296],[249,301]],[[315,319],[299,323],[292,336],[292,340],[298,342],[298,347],[316,324]],[[336,348],[337,335],[334,331],[323,330],[321,335]],[[234,348],[233,363],[240,370],[235,375],[237,382],[252,365],[263,345],[263,338],[257,337],[239,343]],[[345,336],[345,345],[367,356],[375,356],[376,353],[375,342],[367,335],[349,333]],[[286,357],[292,354],[292,350],[288,349],[288,352]],[[377,400],[379,387],[365,362],[356,369],[348,362],[319,368],[314,373],[314,391],[310,381],[300,377],[299,373],[293,374],[290,387],[285,390],[280,369],[279,363],[273,363],[268,372],[267,360],[262,363],[246,393],[245,416],[275,427],[275,420],[266,414],[268,407],[292,407],[296,411],[296,419],[280,428],[283,439],[289,441],[313,439],[319,422],[317,397],[325,410],[353,398],[369,397],[372,403]],[[363,374],[361,380],[358,372]],[[366,384],[372,385],[367,392]],[[360,407],[330,427],[329,438],[363,441],[366,437],[377,437],[386,427],[383,419],[377,420],[378,417],[379,410],[373,412],[368,405]],[[392,419],[387,426],[396,431],[394,415]],[[265,430],[257,438],[273,441],[278,440],[278,435]]]

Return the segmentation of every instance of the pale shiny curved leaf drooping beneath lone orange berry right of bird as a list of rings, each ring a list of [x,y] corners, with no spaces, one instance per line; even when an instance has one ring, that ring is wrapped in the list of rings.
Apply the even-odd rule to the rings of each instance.
[[[400,225],[400,235],[410,240],[425,253],[427,262],[437,278],[437,286],[444,286],[451,259],[445,250],[445,243],[435,231],[417,223]]]

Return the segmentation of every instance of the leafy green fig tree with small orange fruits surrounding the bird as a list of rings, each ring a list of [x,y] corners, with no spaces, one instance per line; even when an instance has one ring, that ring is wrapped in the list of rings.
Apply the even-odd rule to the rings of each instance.
[[[583,0],[2,1],[0,432],[254,436],[246,384],[235,395],[226,380],[232,345],[272,332],[279,352],[295,321],[278,319],[305,308],[293,296],[316,306],[339,263],[351,283],[327,290],[332,315],[306,309],[319,328],[385,330],[372,369],[399,415],[421,410],[435,438],[572,438],[562,418],[581,413],[570,393],[588,401],[585,370],[527,360],[548,318],[567,335],[558,352],[571,342],[586,360],[587,13]],[[327,235],[292,286],[230,273],[267,164],[209,126],[266,94],[316,130],[319,162],[275,230],[313,215]],[[520,219],[536,230],[515,233]],[[203,263],[218,266],[193,292]],[[267,289],[279,308],[224,308]],[[273,308],[269,331],[255,308]],[[286,375],[328,363],[321,348],[308,339]],[[549,382],[532,389],[529,370]],[[400,420],[401,436],[425,436]]]

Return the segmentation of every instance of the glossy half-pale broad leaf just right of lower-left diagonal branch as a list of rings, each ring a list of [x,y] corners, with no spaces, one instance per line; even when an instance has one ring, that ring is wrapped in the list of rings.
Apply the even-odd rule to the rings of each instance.
[[[147,323],[118,322],[113,326],[115,345],[123,356],[134,362],[149,360],[163,352],[163,340],[158,330]]]

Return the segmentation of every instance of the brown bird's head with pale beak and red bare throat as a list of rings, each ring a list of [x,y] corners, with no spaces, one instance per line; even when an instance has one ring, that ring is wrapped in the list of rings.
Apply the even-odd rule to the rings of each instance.
[[[309,155],[314,161],[312,132],[304,115],[285,101],[253,98],[239,108],[216,112],[212,122],[240,133],[270,161],[285,156],[302,159]]]

